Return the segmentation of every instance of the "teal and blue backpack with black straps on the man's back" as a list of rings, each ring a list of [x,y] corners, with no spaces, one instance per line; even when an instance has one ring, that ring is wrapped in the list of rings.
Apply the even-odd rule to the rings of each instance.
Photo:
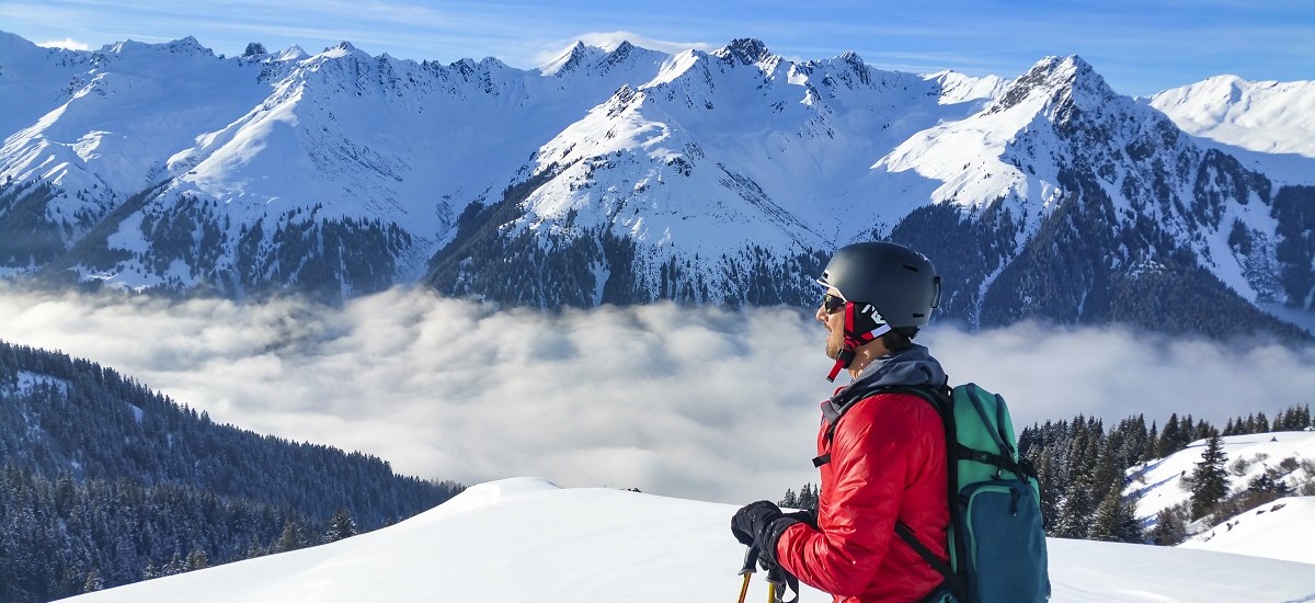
[[[936,408],[945,427],[949,462],[949,564],[914,537],[903,521],[896,533],[945,579],[927,603],[1032,603],[1051,596],[1045,529],[1036,469],[1018,454],[1005,399],[976,383],[877,386],[842,392],[846,403],[827,416],[827,437],[848,407],[873,394],[910,394]],[[818,462],[821,461],[821,462]],[[828,458],[819,457],[821,465]]]

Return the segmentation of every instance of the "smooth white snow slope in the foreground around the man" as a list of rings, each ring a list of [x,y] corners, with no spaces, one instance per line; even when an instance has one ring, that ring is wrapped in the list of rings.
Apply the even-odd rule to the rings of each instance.
[[[76,602],[734,600],[734,506],[529,478],[475,486],[394,527],[330,545],[154,579]],[[1315,566],[1226,553],[1049,540],[1056,603],[1282,602]],[[750,598],[765,596],[761,578]],[[830,600],[805,587],[803,602]]]

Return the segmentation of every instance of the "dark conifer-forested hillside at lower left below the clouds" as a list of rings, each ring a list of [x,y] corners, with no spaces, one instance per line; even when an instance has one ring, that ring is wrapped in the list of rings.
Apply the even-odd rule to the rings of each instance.
[[[460,490],[3,341],[0,465],[0,600],[14,603],[337,540]]]

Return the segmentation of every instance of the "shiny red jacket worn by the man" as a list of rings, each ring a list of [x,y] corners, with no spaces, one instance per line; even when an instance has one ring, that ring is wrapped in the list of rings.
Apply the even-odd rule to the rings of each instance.
[[[776,558],[801,582],[843,603],[914,602],[940,574],[896,535],[902,520],[945,558],[949,524],[945,432],[926,400],[877,394],[851,407],[830,442],[818,433],[822,465],[818,527],[781,533]]]

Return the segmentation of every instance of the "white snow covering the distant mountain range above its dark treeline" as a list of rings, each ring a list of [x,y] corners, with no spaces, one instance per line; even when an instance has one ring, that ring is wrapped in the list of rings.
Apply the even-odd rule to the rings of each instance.
[[[1102,159],[1066,157],[1073,145],[1053,120],[1069,99],[1110,117],[1110,140],[1095,151],[1122,157],[1135,136],[1168,124],[1164,111],[1194,137],[1165,142],[1170,155],[1157,159],[1216,147],[1278,182],[1315,183],[1315,84],[1220,76],[1137,104],[1077,57],[1045,58],[1006,82],[884,71],[851,53],[796,62],[752,39],[677,54],[573,43],[540,68],[515,70],[493,58],[370,57],[347,42],[316,55],[291,47],[221,59],[192,38],[91,53],[3,34],[0,59],[0,97],[13,99],[0,113],[0,179],[60,184],[49,205],[57,223],[120,219],[108,244],[134,259],[83,274],[114,287],[209,273],[166,274],[141,259],[142,216],[184,195],[218,201],[227,228],[220,267],[237,263],[243,229],[260,224],[268,242],[280,216],[317,207],[321,220],[404,228],[414,245],[397,251],[392,276],[410,284],[455,236],[455,216],[531,174],[551,178],[506,228],[542,237],[576,216],[577,233],[634,233],[646,265],[750,246],[777,257],[832,249],[889,234],[928,203],[970,213],[1003,201],[1023,249],[1063,199],[1059,166]],[[1128,216],[1114,184],[1128,170],[1120,157],[1102,186],[1116,216]],[[139,212],[110,213],[162,182]],[[1191,184],[1173,186],[1189,199]],[[1285,302],[1273,284],[1276,241],[1260,241],[1276,228],[1262,205],[1231,204],[1219,225],[1191,224],[1168,200],[1145,217],[1248,300]],[[1256,234],[1251,257],[1227,244],[1235,219]],[[694,265],[715,279],[718,266]]]

